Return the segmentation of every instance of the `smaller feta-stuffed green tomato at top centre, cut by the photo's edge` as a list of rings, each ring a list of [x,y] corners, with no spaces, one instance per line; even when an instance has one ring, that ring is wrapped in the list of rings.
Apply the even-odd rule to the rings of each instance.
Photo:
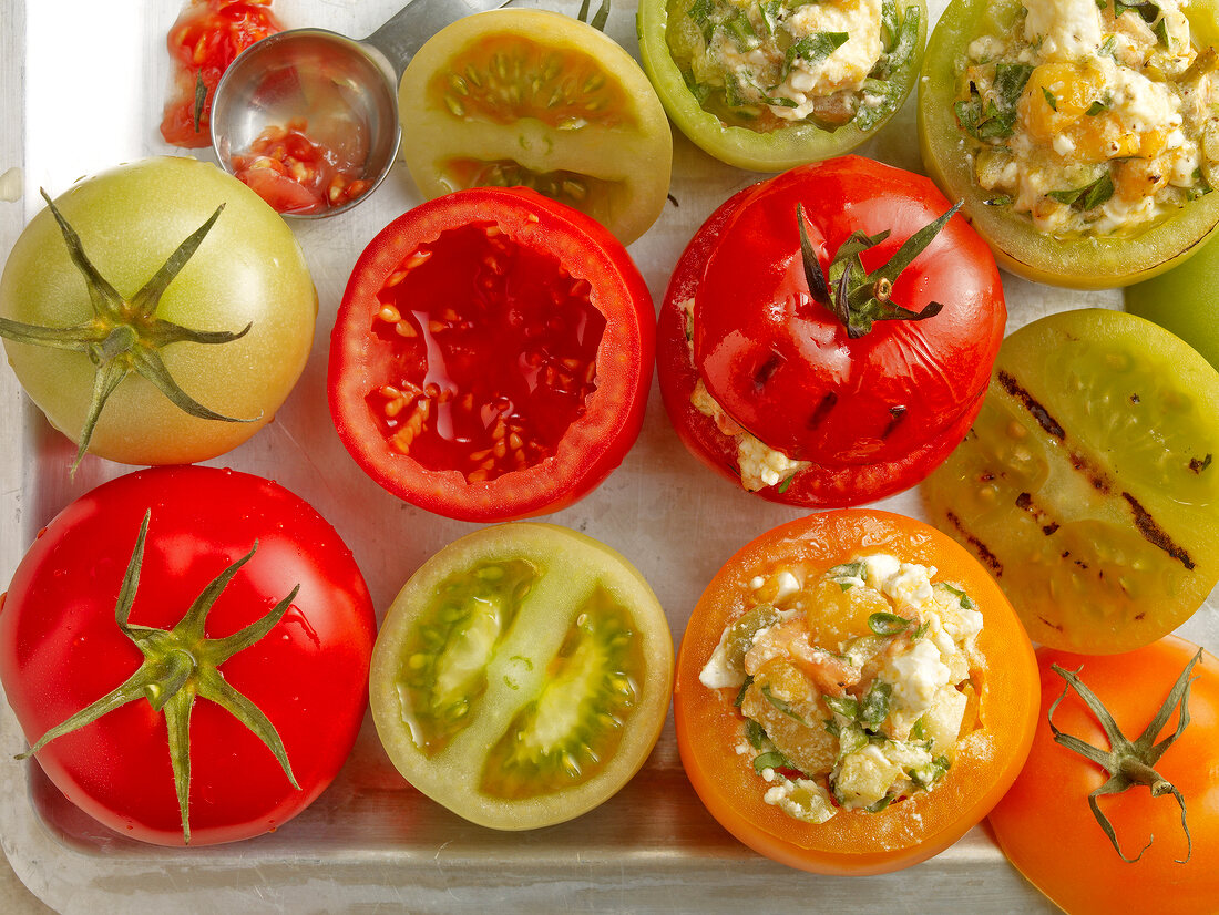
[[[870,22],[873,7],[879,21]],[[837,156],[875,134],[902,106],[918,76],[926,40],[925,0],[884,0],[831,11],[833,23],[805,32],[807,6],[768,0],[753,6],[716,0],[642,0],[636,28],[640,58],[664,108],[681,132],[716,158],[740,168],[780,172]],[[842,16],[863,19],[837,30]],[[835,13],[840,13],[835,16]],[[814,12],[816,17],[817,13]],[[830,29],[834,30],[830,30]],[[791,97],[794,69],[812,72],[842,45],[855,49],[876,29],[879,58],[858,84],[834,84]],[[764,56],[761,68],[733,60]],[[858,63],[855,65],[858,67]],[[757,80],[761,79],[761,83]],[[802,118],[784,117],[808,108]]]

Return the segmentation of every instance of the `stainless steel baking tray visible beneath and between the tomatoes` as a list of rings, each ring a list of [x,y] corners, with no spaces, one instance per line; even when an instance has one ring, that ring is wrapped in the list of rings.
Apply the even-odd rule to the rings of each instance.
[[[364,35],[401,0],[277,0],[288,24]],[[556,9],[552,2],[530,2]],[[933,0],[937,16],[945,0]],[[562,6],[574,13],[575,2]],[[0,0],[0,173],[24,169],[24,196],[0,202],[0,252],[52,195],[80,175],[169,152],[157,133],[169,82],[165,37],[173,0]],[[636,52],[634,4],[607,32]],[[911,106],[867,155],[919,169]],[[210,156],[210,152],[206,155]],[[744,173],[674,136],[673,196],[631,252],[652,295],[695,228]],[[434,551],[471,530],[399,502],[344,451],[325,408],[325,357],[347,272],[364,244],[418,202],[405,168],[354,212],[297,223],[321,297],[305,375],[275,418],[218,465],[277,479],[328,518],[355,551],[378,608]],[[1113,292],[1079,294],[1004,277],[1009,330],[1064,308],[1120,307]],[[72,448],[0,370],[0,582],[26,546],[72,498],[130,468],[88,458],[67,475]],[[919,514],[913,493],[881,503]],[[652,582],[679,640],[705,584],[737,547],[801,514],[734,490],[679,443],[653,391],[636,447],[596,492],[552,517],[610,543]],[[683,545],[680,548],[674,545]],[[1182,630],[1219,648],[1219,604]],[[472,826],[406,785],[371,720],[334,785],[274,835],[189,850],[135,843],[67,803],[33,764],[12,761],[24,741],[0,703],[0,843],[13,870],[60,911],[236,913],[260,910],[475,911],[1053,911],[1006,863],[985,826],[911,870],[831,878],[780,867],[736,843],[703,810],[678,759],[672,720],[645,769],[617,797],[573,822],[529,833]]]

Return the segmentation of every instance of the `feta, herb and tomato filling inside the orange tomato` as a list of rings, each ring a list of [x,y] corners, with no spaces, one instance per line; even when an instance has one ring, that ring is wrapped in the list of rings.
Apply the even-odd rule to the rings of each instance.
[[[934,790],[976,720],[969,596],[886,553],[779,569],[748,591],[700,681],[739,704],[737,753],[766,803],[818,824]]]

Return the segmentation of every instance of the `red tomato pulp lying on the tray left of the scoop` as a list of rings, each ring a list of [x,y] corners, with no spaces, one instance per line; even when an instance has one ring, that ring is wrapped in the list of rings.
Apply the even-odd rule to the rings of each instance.
[[[283,28],[271,12],[271,0],[191,0],[167,39],[176,90],[161,121],[165,141],[187,149],[211,146],[212,94],[221,76],[241,51]],[[206,95],[196,112],[200,80]]]

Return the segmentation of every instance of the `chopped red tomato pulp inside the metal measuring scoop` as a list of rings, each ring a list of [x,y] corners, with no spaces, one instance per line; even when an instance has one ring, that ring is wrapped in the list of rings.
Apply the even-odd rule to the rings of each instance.
[[[268,127],[250,151],[233,157],[233,173],[279,213],[313,213],[343,206],[368,190],[363,161],[316,143],[305,121]]]

